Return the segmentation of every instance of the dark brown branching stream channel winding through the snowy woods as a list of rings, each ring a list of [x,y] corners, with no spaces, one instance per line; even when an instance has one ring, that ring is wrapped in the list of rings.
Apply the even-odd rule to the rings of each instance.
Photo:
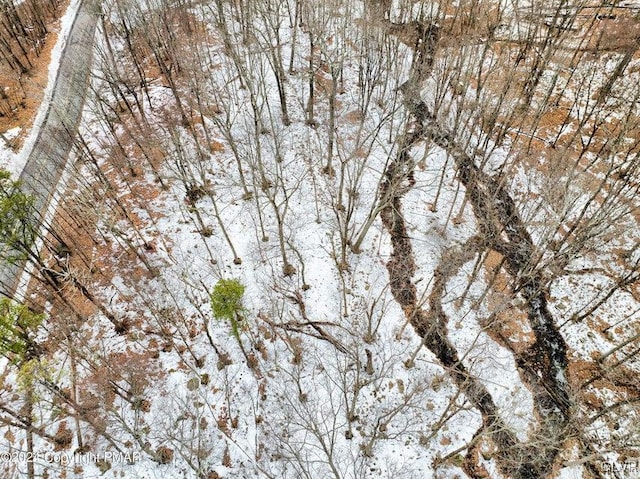
[[[567,346],[549,312],[546,282],[534,267],[535,258],[538,257],[536,247],[514,200],[501,178],[492,177],[476,166],[474,159],[438,123],[420,96],[420,85],[433,61],[436,31],[435,27],[422,26],[424,36],[421,48],[415,49],[412,74],[401,87],[403,103],[410,119],[397,158],[389,164],[379,192],[380,203],[384,205],[382,223],[390,233],[392,243],[392,254],[387,263],[390,287],[394,299],[422,338],[423,344],[481,412],[483,426],[476,436],[483,433],[490,435],[498,449],[495,457],[501,472],[514,479],[546,477],[561,450],[571,417],[571,398],[566,379]],[[414,161],[410,150],[424,141],[443,149],[453,158],[458,179],[466,189],[479,225],[477,236],[461,248],[450,249],[443,254],[434,272],[427,311],[419,305],[416,287],[412,282],[416,264],[402,214],[402,198],[415,185]],[[532,439],[525,443],[519,442],[505,426],[491,394],[477,378],[468,373],[447,337],[448,318],[442,307],[447,281],[466,262],[487,250],[494,250],[505,258],[506,272],[514,279],[514,290],[526,302],[527,318],[535,335],[535,342],[524,353],[517,352],[506,343],[514,355],[521,379],[534,399],[538,427]],[[482,477],[476,473],[474,454],[474,447],[470,447],[465,471],[471,477]]]

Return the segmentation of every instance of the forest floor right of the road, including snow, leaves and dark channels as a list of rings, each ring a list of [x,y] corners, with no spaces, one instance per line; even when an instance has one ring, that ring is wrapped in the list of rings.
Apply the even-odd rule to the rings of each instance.
[[[355,100],[365,91],[357,55],[344,66],[346,87],[334,103],[339,153],[332,171],[324,165],[324,123],[306,121],[300,93],[306,78],[287,73],[294,120],[282,125],[274,80],[260,78],[254,91],[253,70],[242,70],[222,35],[193,33],[208,31],[194,19],[211,13],[194,11],[200,16],[160,16],[172,33],[185,22],[198,39],[189,44],[182,31],[184,37],[173,37],[188,45],[171,46],[183,53],[173,59],[185,62],[176,69],[181,75],[161,73],[154,58],[164,57],[147,51],[141,84],[111,90],[118,82],[101,84],[113,73],[107,49],[101,51],[74,170],[52,227],[56,247],[46,256],[54,287],[34,282],[30,291],[30,300],[49,315],[42,347],[48,361],[61,365],[64,388],[43,392],[53,395],[55,409],[54,415],[42,402],[41,416],[53,418],[43,428],[76,429],[76,437],[56,443],[56,450],[143,454],[134,464],[83,464],[73,474],[577,479],[615,477],[606,470],[614,461],[637,464],[640,283],[633,274],[624,282],[625,268],[633,272],[637,266],[637,244],[629,237],[637,230],[637,208],[634,203],[624,222],[598,233],[593,249],[571,250],[590,215],[578,214],[582,203],[572,203],[570,194],[602,200],[598,181],[621,175],[608,175],[599,157],[576,160],[580,142],[562,136],[585,126],[575,121],[581,110],[572,108],[593,98],[569,103],[576,91],[569,84],[573,70],[558,68],[557,78],[567,83],[550,89],[563,89],[555,107],[531,122],[535,139],[520,134],[535,116],[523,115],[508,141],[487,141],[484,146],[497,153],[484,157],[474,135],[490,128],[456,130],[455,138],[448,129],[454,123],[448,115],[458,105],[475,107],[465,103],[456,83],[460,69],[447,70],[449,59],[467,58],[460,52],[473,51],[480,35],[472,32],[460,51],[445,38],[433,72],[417,75],[413,93],[419,94],[403,91],[398,105],[404,103],[404,111],[394,118],[397,112],[386,108],[411,77],[409,59],[412,68],[420,67],[410,51],[419,39],[411,29],[419,32],[419,25],[396,25],[409,32],[402,41],[410,48],[385,37],[384,47],[395,45],[401,58],[392,67],[396,57],[380,49],[385,68],[397,69],[391,77],[396,84],[387,87],[376,78],[371,88],[378,98],[368,108],[358,110]],[[618,22],[624,31],[635,28],[625,22]],[[596,33],[618,32],[618,23],[611,23],[615,29],[604,23]],[[367,34],[367,41],[376,37]],[[145,45],[142,35],[135,38],[142,46],[133,52],[154,45]],[[620,32],[612,38],[622,42],[603,53],[613,59],[633,46]],[[287,40],[283,44],[293,44]],[[124,57],[125,42],[114,44]],[[509,58],[512,52],[496,44]],[[253,46],[239,48],[247,45]],[[293,59],[289,48],[283,55]],[[587,50],[579,70],[585,77],[590,65],[601,68]],[[198,61],[207,61],[198,64],[196,54],[203,51],[208,57]],[[256,53],[263,51],[245,53],[254,67],[269,71],[273,64]],[[298,50],[296,57],[299,71],[317,60],[316,115],[325,123],[331,68],[319,59],[330,53]],[[135,77],[132,63],[116,58],[114,78],[124,67]],[[495,65],[496,71],[504,66]],[[638,65],[636,52],[630,75]],[[190,95],[202,87],[192,83],[201,69],[213,73],[196,103]],[[446,78],[442,84],[436,83],[439,74]],[[546,86],[548,77],[541,78]],[[594,78],[596,84],[600,78]],[[511,86],[505,83],[487,84],[494,89],[488,97],[506,92]],[[478,88],[470,88],[470,96],[479,92],[478,84],[469,84]],[[429,103],[437,91],[450,108],[442,108],[440,117]],[[264,110],[252,95],[262,99]],[[478,113],[478,124],[490,123],[490,105]],[[535,102],[529,106],[535,110]],[[270,121],[256,113],[265,110],[273,115]],[[257,119],[262,129],[254,126]],[[606,144],[609,123],[601,121],[605,126],[593,135],[592,150]],[[362,131],[366,139],[360,142]],[[377,137],[380,131],[384,139]],[[393,143],[387,135],[395,135]],[[256,152],[263,154],[260,162]],[[504,155],[510,154],[507,163]],[[244,164],[236,169],[235,160]],[[507,173],[500,176],[494,163],[503,160]],[[587,170],[580,181],[552,175],[574,163]],[[250,178],[251,194],[243,175]],[[358,175],[364,180],[354,180]],[[539,210],[565,203],[560,233],[547,235],[545,228],[553,226],[545,226],[548,215],[541,220]],[[362,250],[350,251],[354,225],[365,224],[376,205],[382,207]],[[563,236],[568,230],[576,232],[569,239]],[[565,249],[554,250],[549,238]],[[574,256],[565,264],[555,254],[566,250]],[[221,278],[238,278],[246,286],[239,329],[211,318],[210,294]],[[598,305],[609,288],[611,296]],[[408,324],[417,334],[405,329]],[[0,440],[14,447],[16,430]],[[39,445],[47,447],[46,440]],[[49,473],[66,477],[71,468]]]

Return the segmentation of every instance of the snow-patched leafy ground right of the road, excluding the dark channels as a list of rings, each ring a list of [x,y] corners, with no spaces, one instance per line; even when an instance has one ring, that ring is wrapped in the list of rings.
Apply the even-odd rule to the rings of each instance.
[[[273,10],[260,10],[267,3],[279,6],[280,17]],[[134,4],[119,5],[123,11],[105,6],[117,29],[109,47],[99,47],[95,95],[80,128],[86,148],[76,152],[75,179],[68,202],[61,203],[63,211],[81,205],[78,211],[88,218],[84,231],[65,231],[78,244],[90,238],[91,245],[84,251],[86,258],[71,258],[67,273],[95,292],[94,314],[60,339],[55,325],[64,322],[65,310],[51,308],[51,326],[44,336],[58,348],[48,358],[56,371],[54,382],[77,396],[75,405],[60,402],[43,387],[46,399],[38,405],[37,418],[52,434],[63,423],[76,431],[77,421],[89,452],[77,456],[81,464],[75,468],[60,461],[52,465],[45,459],[51,459],[54,446],[36,438],[38,470],[47,470],[49,477],[83,478],[450,478],[463,477],[464,467],[469,467],[467,449],[475,444],[477,466],[488,471],[488,477],[501,477],[491,440],[474,443],[481,415],[456,387],[450,371],[421,347],[389,287],[385,266],[392,247],[389,232],[377,218],[379,184],[401,144],[407,114],[397,88],[409,78],[412,51],[397,36],[382,34],[370,18],[368,25],[360,3],[340,4],[337,10],[314,4],[318,23],[307,22],[304,29],[289,27],[284,2],[272,3],[256,2],[249,12],[255,37],[244,39],[242,12],[225,10],[230,32],[225,38],[213,6],[194,5],[187,9],[189,15],[180,11],[176,16],[153,2],[144,12]],[[398,15],[404,14],[398,2],[395,6]],[[412,6],[415,15],[420,14],[417,6]],[[505,9],[505,15],[512,12]],[[282,21],[280,48],[268,37],[274,34],[268,19],[274,18]],[[356,19],[357,27],[346,19]],[[192,74],[176,74],[177,85],[172,84],[166,72],[164,77],[158,74],[153,55],[144,50],[153,43],[145,45],[136,37],[148,54],[141,62],[148,82],[144,91],[123,32],[166,39],[167,25],[179,34],[185,34],[185,25],[198,32],[188,39],[176,35],[175,43],[162,46],[162,52],[180,64],[172,65],[172,71]],[[309,32],[316,36],[311,53]],[[293,72],[287,72],[285,83],[290,125],[282,122],[273,69],[278,57],[269,53],[276,50],[285,65],[293,58]],[[587,168],[551,177],[545,165],[568,157],[554,158],[550,147],[526,163],[527,154],[535,155],[517,150],[522,137],[483,143],[482,131],[471,120],[482,119],[496,103],[504,110],[496,116],[504,116],[517,101],[496,101],[491,89],[499,90],[501,84],[482,92],[477,85],[459,91],[462,79],[457,75],[464,69],[454,68],[456,62],[469,71],[483,63],[474,57],[466,64],[456,54],[481,51],[476,44],[460,51],[451,43],[442,47],[422,95],[467,151],[486,160],[485,171],[506,171],[509,191],[541,252],[540,268],[550,275],[550,311],[575,362],[569,377],[575,424],[583,433],[562,443],[550,474],[587,477],[581,459],[588,454],[580,441],[591,441],[589,454],[594,454],[594,467],[600,467],[604,459],[618,459],[605,455],[608,447],[628,452],[626,445],[637,434],[633,411],[589,423],[598,410],[632,397],[633,385],[624,389],[611,379],[582,391],[580,386],[591,376],[582,377],[577,370],[587,363],[595,368],[595,359],[620,341],[633,339],[640,299],[634,296],[635,283],[612,294],[584,320],[571,318],[592,307],[633,267],[633,254],[620,251],[633,252],[635,236],[625,234],[635,231],[635,223],[629,215],[620,217],[611,238],[606,230],[591,230],[598,235],[586,238],[577,252],[569,243],[561,245],[574,253],[566,263],[552,253],[553,242],[572,225],[586,228],[590,218],[597,218],[590,210],[585,217],[580,213],[593,195],[593,182],[602,175]],[[171,58],[176,52],[180,54]],[[316,125],[307,121],[310,55]],[[489,57],[484,65],[490,72],[508,64],[498,53]],[[602,83],[606,77],[588,76],[595,75],[595,64],[585,63],[576,78],[584,74]],[[608,62],[603,71],[610,73],[615,65]],[[367,78],[366,68],[376,67],[380,70]],[[583,117],[591,88],[584,92],[577,88],[584,86],[579,82],[554,83],[553,73],[562,68],[550,62],[540,90],[573,102],[571,114]],[[327,174],[328,98],[331,73],[337,71],[334,174]],[[118,91],[115,79],[128,79],[129,87],[134,86]],[[365,101],[368,93],[370,101]],[[539,100],[532,101],[533,111]],[[128,108],[135,113],[127,113]],[[180,108],[190,121],[180,118]],[[544,140],[550,141],[554,133],[569,137],[575,125],[565,125],[560,133],[550,127]],[[540,130],[534,133],[542,135]],[[403,197],[418,268],[412,281],[425,310],[444,252],[479,234],[477,213],[446,153],[434,145],[412,149],[415,185]],[[565,187],[559,199],[558,186]],[[545,221],[550,211],[555,215],[552,226]],[[356,254],[350,246],[369,218],[375,219]],[[576,228],[572,239],[581,239],[581,231]],[[628,263],[616,263],[623,259]],[[496,341],[487,326],[498,308],[505,314],[525,308],[518,293],[509,289],[517,282],[503,271],[493,283],[495,265],[483,261],[486,264],[476,264],[474,257],[446,284],[442,304],[449,318],[448,339],[490,392],[504,424],[519,441],[535,443],[540,440],[535,436],[540,417],[534,392],[512,351]],[[229,321],[212,317],[210,294],[220,279],[237,279],[245,286],[237,336]],[[511,282],[501,286],[500,281]],[[79,293],[66,284],[76,300]],[[129,330],[116,333],[107,314],[126,319]],[[605,325],[616,323],[622,326],[603,332]],[[512,350],[526,348],[529,325],[512,333]],[[636,371],[637,365],[628,366]],[[15,379],[15,371],[7,374],[9,382]],[[629,440],[614,434],[611,421],[618,421]],[[13,437],[0,439],[1,447],[24,450],[22,431],[9,429]],[[73,436],[58,448],[58,457],[70,457],[65,454],[80,445],[79,436]],[[131,463],[116,453],[129,454]],[[563,468],[564,461],[569,464]],[[10,467],[6,475],[20,477],[18,469]]]

